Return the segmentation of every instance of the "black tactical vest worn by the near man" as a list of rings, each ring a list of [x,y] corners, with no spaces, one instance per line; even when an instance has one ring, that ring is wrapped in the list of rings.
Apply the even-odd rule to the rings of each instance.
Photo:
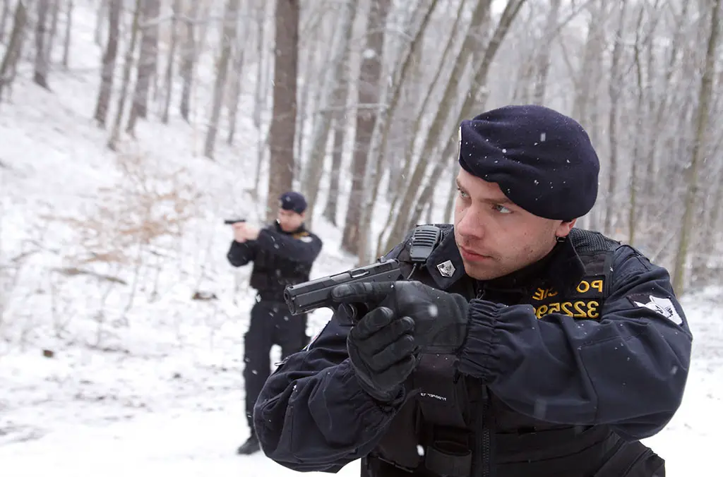
[[[439,226],[443,235],[450,233],[451,226]],[[580,229],[573,229],[568,240],[584,270],[582,278],[575,280],[577,283],[568,290],[556,290],[542,277],[511,295],[500,294],[464,275],[447,291],[469,299],[531,304],[540,319],[549,313],[599,319],[609,295],[612,252],[619,244],[602,234]],[[408,245],[396,256],[403,271],[412,270]],[[435,286],[424,267],[412,272],[410,279]],[[581,465],[599,466],[604,461],[601,452],[612,447],[607,441],[617,440],[611,437],[607,426],[573,428],[516,413],[490,395],[479,381],[456,372],[455,359],[450,356],[420,356],[419,367],[408,379],[406,388],[412,390],[414,397],[403,405],[377,448],[364,459],[362,477],[485,476],[492,466],[491,460],[497,464],[498,477],[587,475],[570,474],[570,469],[564,467],[570,463],[567,457],[579,454],[581,461],[587,461]],[[596,449],[596,445],[600,448]],[[548,455],[545,449],[549,450]],[[589,449],[596,452],[585,454],[591,452]],[[555,459],[559,459],[560,469],[549,467],[552,464],[547,462]],[[536,469],[535,460],[547,466],[544,471]],[[518,461],[524,468],[515,469]],[[589,475],[593,475],[594,469],[591,467]]]

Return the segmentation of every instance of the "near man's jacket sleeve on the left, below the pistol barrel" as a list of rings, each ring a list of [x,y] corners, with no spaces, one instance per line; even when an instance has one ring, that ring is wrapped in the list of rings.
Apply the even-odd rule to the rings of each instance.
[[[382,406],[361,390],[348,361],[347,332],[332,318],[266,381],[254,407],[254,429],[275,462],[335,473],[375,447],[403,404],[403,395]]]

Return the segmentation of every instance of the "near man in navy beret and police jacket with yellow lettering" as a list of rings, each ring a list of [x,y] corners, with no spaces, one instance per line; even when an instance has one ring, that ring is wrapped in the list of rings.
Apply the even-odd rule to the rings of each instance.
[[[683,397],[691,335],[666,270],[573,228],[599,162],[540,106],[463,121],[455,225],[408,282],[338,285],[340,312],[265,384],[254,424],[296,470],[365,477],[662,477],[638,439]],[[344,318],[344,319],[343,319]]]

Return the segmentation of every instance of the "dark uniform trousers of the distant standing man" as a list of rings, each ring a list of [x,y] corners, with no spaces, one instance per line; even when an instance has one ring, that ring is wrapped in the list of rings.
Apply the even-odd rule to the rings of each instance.
[[[281,346],[281,359],[307,345],[307,315],[292,315],[283,301],[257,301],[244,335],[244,387],[249,429],[254,429],[254,403],[271,374],[271,347]]]

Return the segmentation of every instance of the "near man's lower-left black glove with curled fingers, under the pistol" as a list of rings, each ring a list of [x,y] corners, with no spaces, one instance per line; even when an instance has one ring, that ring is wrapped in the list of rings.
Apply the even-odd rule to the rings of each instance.
[[[388,308],[375,308],[359,320],[346,338],[346,349],[361,389],[390,403],[416,367],[414,322]]]

